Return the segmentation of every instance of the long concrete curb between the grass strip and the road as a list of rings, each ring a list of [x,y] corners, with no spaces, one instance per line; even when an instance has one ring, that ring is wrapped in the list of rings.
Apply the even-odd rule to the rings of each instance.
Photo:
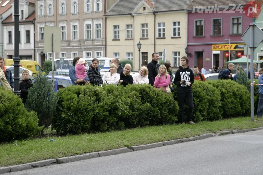
[[[261,130],[261,129],[263,129],[263,127],[252,128],[252,129],[233,130],[233,132],[232,131],[219,131],[217,133],[202,134],[199,136],[191,137],[189,139],[184,138],[184,139],[170,140],[170,141],[158,142],[158,143],[147,144],[147,145],[132,146],[131,149],[124,147],[124,148],[119,148],[119,149],[115,149],[115,150],[92,152],[92,153],[87,153],[84,155],[63,157],[63,158],[58,158],[58,159],[48,159],[48,160],[43,160],[43,161],[38,161],[38,162],[26,163],[26,164],[21,164],[21,165],[14,165],[14,166],[10,166],[10,167],[0,167],[0,174],[15,172],[15,171],[22,171],[22,170],[26,170],[26,169],[31,169],[31,168],[35,168],[35,167],[42,167],[42,166],[47,166],[47,165],[69,163],[69,162],[75,162],[75,161],[80,161],[80,160],[86,160],[86,159],[90,159],[90,158],[116,155],[116,154],[121,154],[121,153],[132,152],[132,151],[146,150],[146,149],[151,149],[151,148],[156,148],[156,147],[161,147],[161,146],[174,145],[174,144],[179,144],[179,143],[184,143],[184,142],[189,142],[189,141],[194,141],[194,140],[206,139],[208,137],[213,137],[213,136],[236,134],[236,133],[243,133],[243,132],[249,132],[249,131],[257,131],[257,130]]]

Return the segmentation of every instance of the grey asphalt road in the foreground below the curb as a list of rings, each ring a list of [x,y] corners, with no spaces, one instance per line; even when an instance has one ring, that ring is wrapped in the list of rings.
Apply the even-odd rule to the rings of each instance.
[[[9,174],[263,174],[263,130]]]

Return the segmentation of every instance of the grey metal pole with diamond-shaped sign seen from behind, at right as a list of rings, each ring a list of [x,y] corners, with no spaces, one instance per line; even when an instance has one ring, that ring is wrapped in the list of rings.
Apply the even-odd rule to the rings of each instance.
[[[254,121],[254,49],[263,40],[263,31],[253,22],[246,29],[241,39],[250,48],[250,104],[251,104],[251,121]]]

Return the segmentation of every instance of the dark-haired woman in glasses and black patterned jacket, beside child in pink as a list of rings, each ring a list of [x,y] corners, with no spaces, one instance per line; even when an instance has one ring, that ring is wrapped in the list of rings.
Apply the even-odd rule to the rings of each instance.
[[[103,84],[102,77],[100,76],[100,71],[98,70],[98,63],[99,60],[97,58],[94,58],[91,61],[91,66],[88,70],[89,82],[90,84],[92,84],[92,86]]]

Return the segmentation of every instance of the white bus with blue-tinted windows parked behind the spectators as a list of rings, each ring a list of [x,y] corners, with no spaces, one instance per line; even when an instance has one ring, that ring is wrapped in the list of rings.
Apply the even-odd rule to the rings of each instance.
[[[92,58],[84,58],[84,60],[91,66]],[[112,58],[98,58],[99,64],[98,69],[101,72],[106,72],[110,70],[110,61]],[[69,72],[69,69],[73,67],[73,58],[65,58],[63,64],[60,64],[60,59],[54,61],[57,71]]]

